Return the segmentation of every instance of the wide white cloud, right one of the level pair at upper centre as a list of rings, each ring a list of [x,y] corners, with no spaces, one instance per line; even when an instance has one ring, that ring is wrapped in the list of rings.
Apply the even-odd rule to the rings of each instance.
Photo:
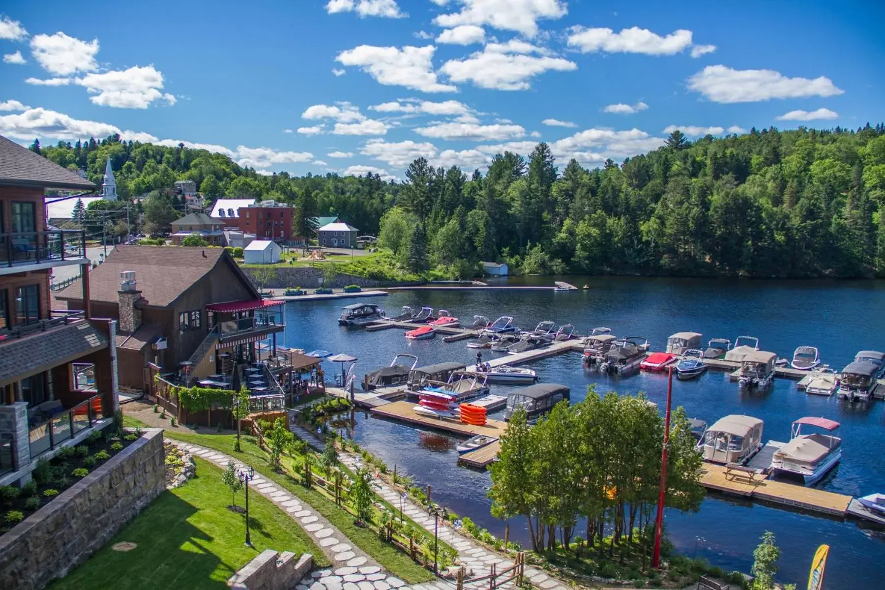
[[[538,53],[542,57],[527,55]],[[554,70],[569,72],[578,66],[563,57],[550,57],[550,50],[531,43],[513,40],[507,43],[489,43],[464,59],[452,59],[443,64],[440,72],[454,82],[472,81],[480,88],[496,90],[525,90],[528,80],[540,73]]]

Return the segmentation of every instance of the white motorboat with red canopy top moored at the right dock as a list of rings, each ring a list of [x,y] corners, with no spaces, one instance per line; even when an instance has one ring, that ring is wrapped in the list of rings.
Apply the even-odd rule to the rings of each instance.
[[[820,428],[824,433],[806,434],[807,427]],[[792,473],[804,479],[805,485],[813,484],[833,469],[842,458],[842,439],[836,435],[839,423],[827,418],[799,418],[790,429],[787,444],[774,451],[772,469],[779,473]]]

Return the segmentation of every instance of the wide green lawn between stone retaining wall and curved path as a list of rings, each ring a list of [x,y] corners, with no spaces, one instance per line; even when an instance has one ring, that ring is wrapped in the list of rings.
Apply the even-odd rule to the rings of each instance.
[[[245,540],[244,514],[227,510],[231,494],[221,470],[195,457],[196,477],[165,491],[88,562],[57,580],[51,590],[81,588],[227,588],[227,579],[265,549],[311,553],[324,567],[327,557],[289,515],[260,494],[250,494],[251,539]],[[237,494],[242,505],[242,492]],[[114,551],[131,541],[131,551]]]

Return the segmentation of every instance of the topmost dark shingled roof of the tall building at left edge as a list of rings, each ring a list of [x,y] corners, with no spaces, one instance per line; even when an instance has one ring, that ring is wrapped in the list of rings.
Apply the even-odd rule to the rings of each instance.
[[[0,135],[0,185],[95,190],[93,183]]]

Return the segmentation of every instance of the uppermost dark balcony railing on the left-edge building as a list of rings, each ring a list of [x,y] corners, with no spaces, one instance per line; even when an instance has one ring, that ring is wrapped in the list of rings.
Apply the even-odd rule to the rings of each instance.
[[[45,264],[85,257],[86,232],[81,229],[0,234],[0,266]]]

